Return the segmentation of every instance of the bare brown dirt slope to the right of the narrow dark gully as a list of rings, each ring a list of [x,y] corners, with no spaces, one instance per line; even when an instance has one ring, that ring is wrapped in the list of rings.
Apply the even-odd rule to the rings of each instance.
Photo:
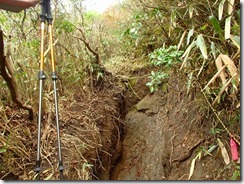
[[[187,180],[191,161],[214,143],[211,123],[200,93],[186,94],[180,75],[173,75],[165,93],[146,96],[126,115],[122,154],[113,180]],[[201,105],[200,105],[201,104]],[[216,149],[218,150],[218,149]],[[204,155],[204,154],[203,154]],[[191,179],[231,177],[218,151],[197,160]]]

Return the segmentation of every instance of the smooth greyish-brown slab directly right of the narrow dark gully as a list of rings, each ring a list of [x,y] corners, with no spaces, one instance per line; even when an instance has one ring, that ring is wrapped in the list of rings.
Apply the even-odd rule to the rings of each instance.
[[[165,178],[164,166],[161,164],[165,145],[163,124],[156,117],[164,102],[160,94],[149,95],[127,114],[121,162],[114,170],[112,179]]]

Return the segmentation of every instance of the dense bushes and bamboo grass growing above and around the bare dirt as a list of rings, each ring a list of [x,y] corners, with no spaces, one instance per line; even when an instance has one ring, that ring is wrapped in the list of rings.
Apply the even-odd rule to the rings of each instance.
[[[215,136],[227,132],[239,140],[240,1],[127,0],[103,14],[85,11],[82,1],[70,1],[69,8],[62,3],[54,1],[54,46],[61,106],[63,102],[75,101],[76,94],[86,91],[87,86],[92,90],[95,84],[106,80],[104,66],[109,62],[114,63],[114,68],[122,65],[122,70],[134,66],[150,68],[147,76],[150,81],[145,84],[150,92],[160,90],[160,85],[177,70],[186,76],[186,93],[197,88],[224,119],[225,127],[214,126],[210,132]],[[6,58],[13,64],[22,101],[33,107],[38,103],[38,14],[39,7],[19,14],[4,11],[0,14]],[[45,69],[50,70],[48,59]],[[23,135],[8,125],[10,117],[6,112],[14,105],[3,78],[0,84],[0,160],[12,164],[11,167],[1,164],[0,169],[8,173],[15,171],[13,162],[8,161],[21,158],[25,151],[18,151],[24,140],[17,140],[17,135]],[[47,80],[46,85],[44,101],[49,104],[52,84]],[[9,142],[12,134],[16,140]],[[82,170],[91,167],[84,163]],[[89,174],[83,173],[83,178],[90,179]],[[231,179],[239,178],[240,168],[236,166]]]

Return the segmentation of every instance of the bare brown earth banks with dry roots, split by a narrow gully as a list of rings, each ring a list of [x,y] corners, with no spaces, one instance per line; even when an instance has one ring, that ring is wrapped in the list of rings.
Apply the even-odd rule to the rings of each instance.
[[[60,99],[65,179],[230,179],[235,167],[225,164],[221,150],[217,147],[211,155],[204,152],[217,145],[217,138],[228,148],[229,138],[226,133],[210,133],[215,118],[201,92],[193,88],[187,94],[184,74],[173,72],[161,89],[151,94],[145,85],[147,73],[150,71],[136,71],[139,77],[133,81],[108,76],[92,90],[79,90],[77,96]],[[44,103],[41,178],[57,180],[55,117],[50,104]],[[0,177],[33,180],[36,122],[15,107],[5,111],[9,122],[2,141],[8,142],[8,149],[1,153]],[[200,153],[190,175],[192,161]]]

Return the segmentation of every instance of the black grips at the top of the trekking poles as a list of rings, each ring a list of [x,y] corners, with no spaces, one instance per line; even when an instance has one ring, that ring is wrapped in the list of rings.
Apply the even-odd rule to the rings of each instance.
[[[41,6],[42,6],[42,11],[40,14],[41,17],[41,22],[45,22],[47,21],[48,24],[52,24],[52,14],[51,14],[51,2],[50,0],[42,0],[40,2]]]

